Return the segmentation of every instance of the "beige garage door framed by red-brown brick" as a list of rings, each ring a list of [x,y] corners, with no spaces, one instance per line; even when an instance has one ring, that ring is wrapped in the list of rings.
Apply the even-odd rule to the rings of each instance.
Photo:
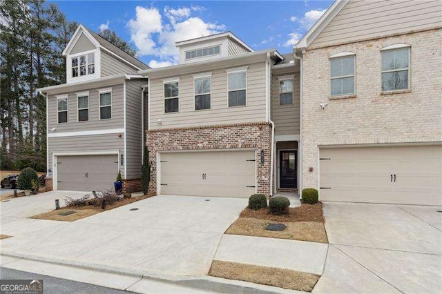
[[[161,153],[161,194],[249,197],[255,193],[255,151]]]

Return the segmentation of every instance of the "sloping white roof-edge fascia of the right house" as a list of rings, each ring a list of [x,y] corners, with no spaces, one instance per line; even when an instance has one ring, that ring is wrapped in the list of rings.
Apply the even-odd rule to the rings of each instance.
[[[349,0],[336,0],[326,12],[314,23],[314,25],[305,33],[304,36],[296,43],[294,50],[307,48],[316,37],[324,30],[324,28],[336,17],[336,14],[349,2]]]

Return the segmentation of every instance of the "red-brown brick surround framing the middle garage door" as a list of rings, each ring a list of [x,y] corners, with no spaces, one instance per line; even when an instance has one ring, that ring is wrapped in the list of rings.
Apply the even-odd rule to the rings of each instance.
[[[258,193],[270,195],[271,126],[267,123],[204,126],[201,128],[179,128],[148,130],[146,145],[152,164],[149,192],[157,191],[157,152],[164,150],[222,150],[254,148],[264,150],[265,162],[256,153],[256,182]]]

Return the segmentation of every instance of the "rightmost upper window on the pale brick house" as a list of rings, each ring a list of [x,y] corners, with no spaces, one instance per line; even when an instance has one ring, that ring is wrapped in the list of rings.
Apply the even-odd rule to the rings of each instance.
[[[382,51],[381,59],[382,90],[409,89],[410,47]]]

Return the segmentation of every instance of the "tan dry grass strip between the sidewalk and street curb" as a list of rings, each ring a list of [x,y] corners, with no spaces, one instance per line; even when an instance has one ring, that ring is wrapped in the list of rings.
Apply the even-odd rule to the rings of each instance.
[[[320,278],[319,275],[285,268],[238,264],[220,260],[213,260],[209,275],[307,292],[311,292]]]

